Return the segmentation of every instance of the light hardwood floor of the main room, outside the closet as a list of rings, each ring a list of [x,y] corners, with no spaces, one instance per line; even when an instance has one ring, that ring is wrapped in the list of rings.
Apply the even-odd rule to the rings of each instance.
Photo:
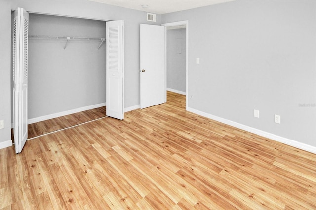
[[[185,97],[0,150],[0,209],[316,209],[316,155],[185,111]]]

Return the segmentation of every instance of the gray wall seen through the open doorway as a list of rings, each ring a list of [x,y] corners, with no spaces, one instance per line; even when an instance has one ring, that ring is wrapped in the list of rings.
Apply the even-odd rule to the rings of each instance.
[[[186,92],[186,29],[167,30],[167,88]]]

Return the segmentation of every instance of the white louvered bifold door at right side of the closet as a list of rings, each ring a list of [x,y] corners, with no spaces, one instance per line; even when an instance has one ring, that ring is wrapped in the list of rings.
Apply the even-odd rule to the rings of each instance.
[[[124,21],[106,22],[107,116],[124,119]]]

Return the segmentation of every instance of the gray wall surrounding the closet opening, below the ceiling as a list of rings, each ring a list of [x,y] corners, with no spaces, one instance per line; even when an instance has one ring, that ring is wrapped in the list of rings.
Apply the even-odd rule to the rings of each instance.
[[[139,105],[139,24],[146,21],[146,12],[125,9],[91,1],[1,0],[0,7],[0,143],[11,140],[11,10],[23,7],[28,12],[82,17],[98,20],[124,20],[124,107]],[[161,24],[161,15],[157,22]],[[69,45],[71,47],[71,45]],[[66,48],[67,49],[67,48]]]

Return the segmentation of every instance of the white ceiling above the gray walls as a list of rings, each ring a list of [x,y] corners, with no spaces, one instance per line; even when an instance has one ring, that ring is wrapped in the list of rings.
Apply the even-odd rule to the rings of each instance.
[[[136,9],[154,14],[166,14],[232,0],[91,0],[110,5]],[[143,8],[142,5],[148,5]]]

